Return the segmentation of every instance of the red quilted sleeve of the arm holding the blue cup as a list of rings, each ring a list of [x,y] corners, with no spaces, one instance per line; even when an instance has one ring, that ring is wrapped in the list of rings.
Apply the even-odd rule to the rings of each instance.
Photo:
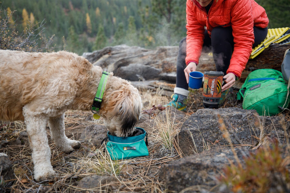
[[[186,65],[192,61],[198,64],[204,39],[205,25],[197,21],[193,6],[191,0],[186,1]]]

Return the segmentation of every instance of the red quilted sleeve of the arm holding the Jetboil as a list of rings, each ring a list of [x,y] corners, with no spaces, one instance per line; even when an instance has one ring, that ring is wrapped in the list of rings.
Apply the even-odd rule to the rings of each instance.
[[[250,0],[237,0],[233,4],[231,26],[235,45],[227,73],[234,72],[240,78],[249,60],[254,43],[254,21]]]

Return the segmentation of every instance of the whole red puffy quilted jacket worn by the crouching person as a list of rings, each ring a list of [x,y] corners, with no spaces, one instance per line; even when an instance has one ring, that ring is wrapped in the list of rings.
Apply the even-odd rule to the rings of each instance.
[[[266,28],[269,23],[265,9],[254,0],[213,0],[208,14],[196,0],[187,0],[186,21],[186,64],[198,64],[204,26],[209,32],[217,26],[232,26],[235,45],[227,73],[233,72],[239,78],[252,52],[253,26]]]

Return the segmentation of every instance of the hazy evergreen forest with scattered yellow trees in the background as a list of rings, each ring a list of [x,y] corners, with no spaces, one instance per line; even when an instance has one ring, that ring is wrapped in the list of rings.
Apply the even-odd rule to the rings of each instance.
[[[289,27],[289,0],[256,1],[268,14],[268,28]],[[186,36],[185,7],[186,0],[2,0],[1,17],[19,35],[41,27],[53,37],[54,51],[81,55],[119,44],[178,45]]]

